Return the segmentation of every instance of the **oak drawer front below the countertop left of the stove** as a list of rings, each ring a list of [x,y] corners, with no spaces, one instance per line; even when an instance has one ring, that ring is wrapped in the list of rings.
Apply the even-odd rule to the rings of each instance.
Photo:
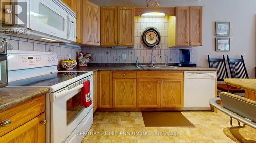
[[[11,124],[8,126],[0,126],[0,136],[18,128],[43,112],[45,112],[44,95],[0,112],[0,122],[11,120]]]

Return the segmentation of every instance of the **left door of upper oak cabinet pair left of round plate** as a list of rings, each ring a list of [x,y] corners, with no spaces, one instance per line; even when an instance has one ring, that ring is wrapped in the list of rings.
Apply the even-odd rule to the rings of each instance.
[[[100,8],[101,46],[117,46],[117,7]]]

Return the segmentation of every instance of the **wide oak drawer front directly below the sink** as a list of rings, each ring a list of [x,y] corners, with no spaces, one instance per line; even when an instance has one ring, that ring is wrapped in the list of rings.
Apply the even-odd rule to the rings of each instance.
[[[183,71],[137,71],[137,78],[184,78]]]

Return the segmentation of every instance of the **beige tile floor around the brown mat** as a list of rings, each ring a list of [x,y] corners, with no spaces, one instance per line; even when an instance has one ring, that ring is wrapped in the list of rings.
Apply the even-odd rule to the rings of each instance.
[[[223,128],[230,126],[229,117],[223,113],[182,113],[196,128],[146,128],[141,112],[97,112],[83,143],[233,142],[223,133]]]

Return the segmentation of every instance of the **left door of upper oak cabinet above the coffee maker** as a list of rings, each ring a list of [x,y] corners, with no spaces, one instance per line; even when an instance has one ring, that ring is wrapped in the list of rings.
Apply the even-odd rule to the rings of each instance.
[[[176,46],[189,46],[189,7],[176,7]]]

